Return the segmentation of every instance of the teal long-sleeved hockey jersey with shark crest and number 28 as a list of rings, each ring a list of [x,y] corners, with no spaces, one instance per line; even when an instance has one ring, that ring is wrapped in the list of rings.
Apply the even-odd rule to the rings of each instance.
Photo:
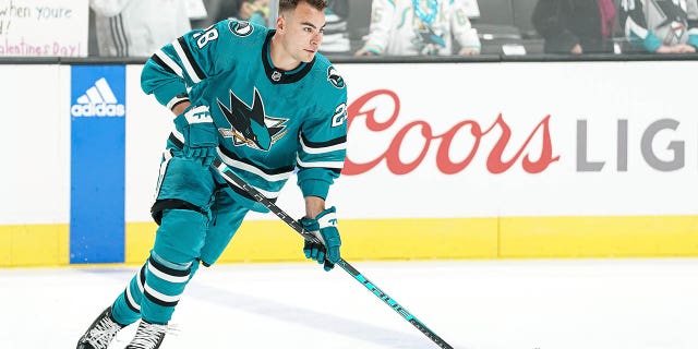
[[[347,86],[320,53],[292,71],[276,69],[274,33],[233,20],[192,31],[147,60],[142,88],[169,109],[185,100],[208,106],[221,160],[268,198],[297,169],[303,195],[326,198],[346,156]],[[183,140],[173,131],[168,147],[181,148]],[[233,191],[245,206],[267,212]]]

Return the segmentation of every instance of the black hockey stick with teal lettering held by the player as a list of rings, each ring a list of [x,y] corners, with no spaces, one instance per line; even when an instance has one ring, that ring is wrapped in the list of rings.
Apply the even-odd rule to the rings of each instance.
[[[263,204],[273,212],[277,217],[281,218],[284,222],[289,225],[293,230],[300,233],[303,239],[309,240],[314,243],[321,243],[315,236],[305,231],[303,227],[301,227],[296,219],[289,217],[279,206],[269,201],[266,196],[260,193],[256,189],[252,188],[245,181],[243,181],[240,177],[232,172],[228,165],[221,163],[219,159],[215,159],[213,166],[218,170],[220,176],[222,176],[227,181],[228,185],[237,185],[244,190],[248,194],[250,194],[254,200],[258,203]],[[375,284],[371,282],[365,276],[363,276],[359,270],[357,270],[351,264],[347,263],[344,258],[340,258],[339,262],[336,263],[339,265],[345,272],[349,273],[357,281],[361,282],[369,291],[380,298],[383,302],[388,304],[394,311],[396,311],[400,316],[405,317],[410,324],[414,325],[417,329],[419,329],[424,336],[429,337],[429,339],[433,340],[440,348],[445,349],[454,349],[446,341],[441,339],[433,330],[429,329],[426,325],[424,325],[421,321],[419,321],[414,315],[410,314],[402,305],[400,305],[396,300],[390,298],[387,293],[381,290]]]

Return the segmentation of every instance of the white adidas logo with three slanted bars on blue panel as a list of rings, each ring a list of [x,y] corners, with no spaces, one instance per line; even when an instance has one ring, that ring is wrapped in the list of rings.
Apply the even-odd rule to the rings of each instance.
[[[70,107],[73,117],[123,117],[125,106],[119,104],[107,80],[101,77],[95,85],[77,97],[77,104]]]

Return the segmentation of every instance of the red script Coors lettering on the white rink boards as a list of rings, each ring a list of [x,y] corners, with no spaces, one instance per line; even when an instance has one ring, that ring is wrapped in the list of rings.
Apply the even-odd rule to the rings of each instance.
[[[375,118],[375,108],[366,107],[366,104],[371,101],[371,99],[376,97],[388,97],[393,103],[393,115],[390,118],[384,122],[376,120]],[[363,120],[361,117],[365,117],[365,128],[371,132],[385,132],[390,129],[390,127],[395,123],[400,112],[400,99],[397,94],[389,89],[376,89],[365,95],[359,97],[354,100],[348,108],[348,125],[351,129],[353,122],[360,122]],[[368,163],[354,163],[349,157],[347,157],[345,161],[345,168],[342,170],[344,174],[353,176],[361,174],[370,171],[381,161],[385,160],[387,168],[390,172],[395,174],[406,174],[413,171],[417,167],[420,166],[424,157],[426,156],[426,152],[432,144],[432,141],[441,140],[438,144],[438,149],[436,152],[436,167],[440,171],[445,174],[454,174],[462,171],[472,158],[478,153],[480,148],[480,141],[488,135],[492,130],[498,129],[501,131],[500,139],[496,144],[490,149],[490,154],[488,156],[488,171],[491,173],[503,173],[506,172],[519,159],[519,157],[524,154],[524,151],[527,148],[528,144],[531,142],[531,139],[537,134],[537,132],[542,133],[542,148],[541,154],[537,160],[531,160],[531,154],[526,154],[524,159],[521,160],[521,167],[528,173],[540,173],[544,171],[552,163],[559,160],[559,156],[553,156],[553,145],[551,143],[550,137],[550,116],[546,116],[541,120],[540,123],[531,131],[526,142],[521,144],[518,152],[508,160],[503,159],[503,153],[506,146],[509,143],[509,139],[512,137],[512,129],[504,121],[502,115],[497,116],[497,119],[490,125],[486,130],[482,130],[480,124],[473,120],[464,120],[455,125],[453,125],[448,131],[444,134],[434,134],[432,131],[432,127],[429,122],[423,120],[412,121],[401,129],[397,130],[397,133],[393,136],[390,144],[387,149],[377,156],[376,158],[368,161]],[[468,152],[468,156],[461,161],[453,161],[448,156],[448,152],[450,145],[453,143],[454,136],[464,128],[470,130],[470,134],[474,137],[474,143],[470,149],[464,149]],[[399,158],[399,149],[405,141],[405,136],[413,129],[420,129],[421,135],[424,137],[424,147],[422,148],[419,156],[409,163],[402,163]]]

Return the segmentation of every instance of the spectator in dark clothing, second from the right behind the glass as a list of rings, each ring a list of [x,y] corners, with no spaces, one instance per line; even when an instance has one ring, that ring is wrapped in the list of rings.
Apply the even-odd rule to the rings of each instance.
[[[532,22],[546,53],[613,53],[613,0],[539,0]]]

